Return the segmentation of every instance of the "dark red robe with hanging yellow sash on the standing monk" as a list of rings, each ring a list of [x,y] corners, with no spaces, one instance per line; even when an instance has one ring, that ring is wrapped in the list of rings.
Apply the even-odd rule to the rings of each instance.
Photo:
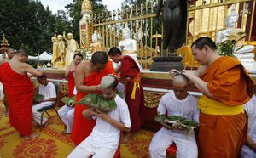
[[[121,63],[121,78],[131,77],[130,81],[125,81],[125,101],[131,117],[131,133],[135,133],[143,124],[144,95],[140,69],[136,61],[128,55],[123,57]]]

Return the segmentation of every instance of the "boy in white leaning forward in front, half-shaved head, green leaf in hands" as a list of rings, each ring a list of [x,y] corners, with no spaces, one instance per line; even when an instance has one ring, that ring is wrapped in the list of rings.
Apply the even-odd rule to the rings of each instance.
[[[96,119],[96,125],[90,136],[80,143],[68,158],[113,157],[119,146],[120,131],[129,132],[131,129],[130,114],[127,104],[116,94],[118,81],[114,76],[104,76],[101,82],[101,91],[104,99],[114,99],[117,107],[108,113],[100,110],[86,109],[83,116]]]

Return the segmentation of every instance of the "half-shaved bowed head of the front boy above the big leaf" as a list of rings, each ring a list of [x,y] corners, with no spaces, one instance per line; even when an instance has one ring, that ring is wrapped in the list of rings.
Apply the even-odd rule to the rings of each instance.
[[[113,75],[103,76],[101,81],[101,92],[104,99],[113,99],[116,95],[118,80]]]

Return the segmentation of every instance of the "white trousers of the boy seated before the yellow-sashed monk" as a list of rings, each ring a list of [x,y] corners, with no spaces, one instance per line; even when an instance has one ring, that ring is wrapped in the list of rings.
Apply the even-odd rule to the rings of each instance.
[[[177,146],[177,158],[197,158],[198,150],[195,135],[189,136],[182,133],[174,133],[162,127],[151,140],[149,155],[151,158],[165,158],[166,149],[175,143]]]

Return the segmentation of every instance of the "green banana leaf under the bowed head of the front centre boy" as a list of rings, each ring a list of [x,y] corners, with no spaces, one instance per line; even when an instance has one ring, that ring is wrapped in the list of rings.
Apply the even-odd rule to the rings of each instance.
[[[117,107],[114,99],[104,99],[102,95],[90,93],[80,99],[78,104],[87,105],[90,108],[95,108],[96,110],[101,110],[102,112],[108,112]]]

